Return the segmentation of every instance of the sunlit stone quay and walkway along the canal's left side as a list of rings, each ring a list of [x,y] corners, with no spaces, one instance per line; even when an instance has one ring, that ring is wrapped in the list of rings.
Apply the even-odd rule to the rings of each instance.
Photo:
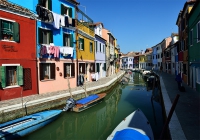
[[[84,86],[76,87],[67,91],[58,91],[56,93],[46,93],[42,95],[32,95],[29,97],[19,98],[7,101],[7,105],[3,106],[1,103],[0,108],[0,123],[7,122],[16,118],[23,117],[28,114],[33,114],[36,112],[63,108],[65,106],[66,100],[72,97],[76,100],[84,98],[87,95],[98,94],[102,92],[108,92],[111,90],[122,77],[125,75],[124,71],[117,74],[113,74],[110,77],[105,77],[99,79],[95,82],[86,83],[86,91]]]

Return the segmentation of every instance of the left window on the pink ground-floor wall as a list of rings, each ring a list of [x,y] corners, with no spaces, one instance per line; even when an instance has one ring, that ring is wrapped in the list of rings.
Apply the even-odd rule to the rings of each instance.
[[[55,63],[40,63],[40,80],[55,79]]]

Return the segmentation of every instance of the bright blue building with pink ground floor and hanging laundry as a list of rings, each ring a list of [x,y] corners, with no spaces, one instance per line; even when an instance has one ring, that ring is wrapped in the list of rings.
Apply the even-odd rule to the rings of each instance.
[[[37,15],[39,93],[76,86],[76,7],[74,0],[10,0]],[[27,27],[28,28],[28,27]],[[69,78],[69,79],[68,79]],[[68,79],[68,80],[67,80]],[[46,88],[48,87],[48,88]]]

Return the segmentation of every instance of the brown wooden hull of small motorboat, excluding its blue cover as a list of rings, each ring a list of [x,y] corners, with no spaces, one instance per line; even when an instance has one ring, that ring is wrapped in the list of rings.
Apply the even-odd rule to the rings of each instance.
[[[106,96],[106,93],[102,93],[102,94],[98,94],[99,98],[93,100],[93,101],[90,101],[89,103],[87,104],[76,104],[73,108],[72,108],[72,111],[74,112],[81,112],[81,111],[84,111],[92,106],[95,106],[97,105],[98,103],[102,102],[102,100],[105,98]]]

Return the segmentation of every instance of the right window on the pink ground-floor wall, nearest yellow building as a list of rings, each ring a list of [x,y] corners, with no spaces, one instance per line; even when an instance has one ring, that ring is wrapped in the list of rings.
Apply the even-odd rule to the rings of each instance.
[[[64,63],[64,75],[66,77],[74,77],[75,76],[75,66],[74,63]]]

